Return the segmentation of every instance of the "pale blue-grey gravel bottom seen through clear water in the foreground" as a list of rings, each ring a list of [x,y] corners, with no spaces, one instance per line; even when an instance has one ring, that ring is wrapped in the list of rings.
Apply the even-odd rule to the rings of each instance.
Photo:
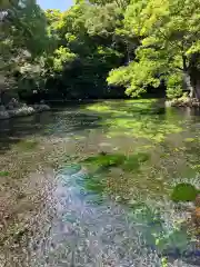
[[[106,198],[96,202],[97,195],[83,189],[83,177],[81,171],[57,175],[39,236],[29,241],[29,266],[162,266],[161,255],[143,235],[150,233],[150,226],[137,224],[127,208]],[[168,266],[192,267],[199,256],[174,256],[169,261]]]

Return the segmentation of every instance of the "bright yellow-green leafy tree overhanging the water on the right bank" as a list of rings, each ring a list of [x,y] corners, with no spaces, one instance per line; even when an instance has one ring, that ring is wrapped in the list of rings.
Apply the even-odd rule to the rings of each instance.
[[[200,99],[200,2],[198,0],[134,0],[124,13],[124,29],[138,37],[136,60],[112,70],[108,82],[139,96],[162,80],[168,97]]]

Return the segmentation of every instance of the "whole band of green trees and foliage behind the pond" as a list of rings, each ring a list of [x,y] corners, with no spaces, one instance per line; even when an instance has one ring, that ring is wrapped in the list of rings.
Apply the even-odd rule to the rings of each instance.
[[[200,98],[199,0],[1,0],[1,83],[19,96]],[[3,82],[2,82],[3,80]]]

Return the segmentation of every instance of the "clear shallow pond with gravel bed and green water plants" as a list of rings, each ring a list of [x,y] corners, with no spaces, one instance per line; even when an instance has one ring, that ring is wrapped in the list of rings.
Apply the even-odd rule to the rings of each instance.
[[[0,121],[0,266],[200,266],[199,206],[172,197],[200,190],[199,129],[149,99]]]

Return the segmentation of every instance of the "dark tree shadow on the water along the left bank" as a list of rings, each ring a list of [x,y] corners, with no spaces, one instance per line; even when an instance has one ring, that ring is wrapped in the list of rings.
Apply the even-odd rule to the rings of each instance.
[[[79,134],[100,126],[101,118],[98,115],[81,112],[74,108],[0,120],[0,154],[31,136],[66,137],[69,134]]]

